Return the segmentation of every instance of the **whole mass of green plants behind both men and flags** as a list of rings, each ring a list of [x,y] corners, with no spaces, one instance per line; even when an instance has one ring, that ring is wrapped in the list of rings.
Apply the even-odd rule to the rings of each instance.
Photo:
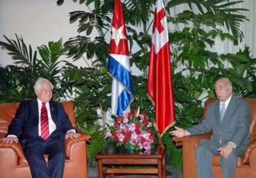
[[[61,5],[63,2],[58,0],[57,4]],[[0,68],[0,102],[33,98],[33,85],[40,76],[54,84],[54,99],[60,99],[66,92],[74,94],[77,123],[83,132],[92,135],[87,153],[92,164],[95,164],[96,153],[105,146],[104,131],[98,131],[96,122],[102,119],[104,126],[105,113],[111,102],[111,78],[107,75],[107,39],[111,31],[110,14],[114,1],[78,2],[84,7],[94,3],[95,7],[93,10],[89,8],[89,12],[69,13],[70,23],[79,22],[80,35],[70,38],[64,43],[64,47],[61,40],[38,47],[41,59],[37,58],[37,51],[33,52],[31,46],[25,45],[22,37],[16,35],[16,40],[10,40],[4,36],[7,43],[0,41],[0,46],[8,51],[15,64]],[[241,14],[246,9],[231,8],[231,5],[241,2],[243,1],[171,0],[166,4],[167,21],[177,26],[177,30],[169,32],[176,125],[187,128],[201,121],[204,110],[202,100],[214,97],[213,85],[219,77],[231,79],[236,95],[255,97],[256,60],[250,58],[249,47],[236,54],[218,54],[207,48],[214,46],[216,38],[228,39],[234,44],[242,41],[243,32],[239,26],[244,20],[248,20]],[[177,5],[188,5],[189,10],[178,13],[175,17],[170,16],[170,9]],[[125,0],[122,7],[130,43],[131,65],[144,73],[142,76],[132,76],[135,100],[131,107],[140,106],[153,120],[154,107],[146,95],[146,73],[151,47],[149,30],[155,0]],[[202,29],[202,26],[207,28]],[[223,32],[223,28],[227,28],[230,33]],[[98,36],[91,39],[93,31]],[[133,52],[135,46],[136,52]],[[60,61],[59,57],[63,54],[72,57],[74,61],[83,58],[88,67],[78,69],[66,61]],[[58,64],[63,62],[66,65],[59,67]],[[225,67],[223,62],[229,62],[231,67]],[[182,149],[173,144],[169,131],[166,133],[163,142],[167,145],[167,154],[172,158],[171,164],[173,167],[181,167]]]

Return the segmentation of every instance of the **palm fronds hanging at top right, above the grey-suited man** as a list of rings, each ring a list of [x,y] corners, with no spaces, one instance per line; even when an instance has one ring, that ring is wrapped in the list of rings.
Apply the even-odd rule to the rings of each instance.
[[[230,2],[228,0],[224,1],[215,1],[215,0],[207,0],[207,1],[197,1],[197,0],[172,0],[167,4],[167,9],[171,7],[175,7],[180,4],[187,4],[190,7],[190,10],[193,10],[192,4],[196,5],[199,10],[199,15],[207,15],[202,20],[204,20],[204,24],[207,26],[216,26],[217,24],[225,26],[228,30],[231,30],[233,34],[234,43],[237,44],[238,40],[242,41],[243,32],[239,29],[241,22],[244,20],[248,20],[246,16],[240,14],[240,11],[247,11],[244,8],[231,8],[231,5],[239,4],[243,1],[233,1]],[[169,10],[167,10],[169,11]],[[192,19],[193,16],[192,16]],[[180,20],[180,19],[179,19]],[[187,20],[190,20],[188,17]],[[194,22],[200,22],[198,19]],[[229,36],[231,36],[229,34]]]

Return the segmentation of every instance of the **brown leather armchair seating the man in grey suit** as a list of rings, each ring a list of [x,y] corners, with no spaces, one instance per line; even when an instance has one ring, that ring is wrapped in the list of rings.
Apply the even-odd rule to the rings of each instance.
[[[205,102],[204,116],[207,112],[208,105],[216,99],[208,99]],[[251,143],[249,143],[246,153],[239,157],[236,173],[234,178],[256,177],[256,99],[244,99],[251,105],[251,126],[249,133]],[[183,177],[196,178],[196,158],[195,149],[200,144],[202,138],[210,139],[211,133],[204,135],[191,135],[183,138],[173,138],[176,145],[183,146]],[[219,164],[219,155],[213,156],[213,174],[215,178],[222,177],[222,168]]]

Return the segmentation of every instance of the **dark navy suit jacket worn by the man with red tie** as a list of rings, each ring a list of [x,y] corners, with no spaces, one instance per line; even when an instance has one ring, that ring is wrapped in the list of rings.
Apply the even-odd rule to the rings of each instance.
[[[64,140],[64,135],[70,129],[74,129],[63,106],[56,101],[49,101],[52,120],[56,129],[51,133],[51,138]],[[37,99],[30,99],[20,103],[16,115],[8,126],[7,135],[16,135],[22,146],[27,141],[42,139],[39,137],[39,108]]]

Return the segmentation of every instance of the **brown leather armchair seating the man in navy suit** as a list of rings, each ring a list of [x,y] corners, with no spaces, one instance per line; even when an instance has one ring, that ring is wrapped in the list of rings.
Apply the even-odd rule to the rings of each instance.
[[[63,101],[64,110],[69,116],[72,125],[79,131],[75,124],[75,114],[73,113],[73,101]],[[19,103],[0,104],[0,138],[7,134],[8,125],[14,118]],[[90,135],[82,134],[76,139],[67,139],[64,141],[66,149],[66,161],[63,178],[86,178],[86,140]],[[48,162],[48,155],[45,155]],[[20,143],[6,144],[0,141],[0,177],[4,178],[29,178],[31,177],[30,167],[24,156]]]

